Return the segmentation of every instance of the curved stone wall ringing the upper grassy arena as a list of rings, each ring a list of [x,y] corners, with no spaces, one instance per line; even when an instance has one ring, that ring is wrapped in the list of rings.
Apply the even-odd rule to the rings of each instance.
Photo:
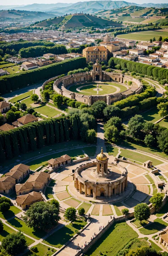
[[[77,101],[81,101],[85,104],[92,105],[97,100],[103,100],[107,103],[107,105],[112,104],[118,100],[122,100],[127,98],[130,95],[138,94],[142,92],[142,83],[128,75],[114,73],[114,72],[102,72],[102,82],[105,81],[113,81],[118,83],[124,83],[125,81],[133,82],[130,89],[125,90],[122,93],[114,93],[108,95],[83,95],[79,93],[71,92],[67,89],[69,85],[75,85],[76,83],[85,83],[85,81],[92,81],[92,70],[91,72],[82,72],[72,75],[66,75],[65,77],[59,78],[54,82],[54,90],[55,92],[68,97],[69,99],[75,99]]]

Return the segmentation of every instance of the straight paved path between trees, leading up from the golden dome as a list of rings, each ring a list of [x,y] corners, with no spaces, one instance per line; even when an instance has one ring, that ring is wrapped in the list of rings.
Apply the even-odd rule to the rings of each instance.
[[[103,123],[98,122],[97,123],[97,151],[96,151],[97,155],[101,152],[101,147],[103,148],[103,152],[106,152]]]

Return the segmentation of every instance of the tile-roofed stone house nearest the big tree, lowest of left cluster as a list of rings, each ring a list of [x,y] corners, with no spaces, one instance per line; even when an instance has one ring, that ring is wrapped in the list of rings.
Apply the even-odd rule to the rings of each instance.
[[[31,204],[41,201],[43,201],[41,193],[35,191],[28,193],[27,195],[19,195],[16,198],[16,203],[22,210],[29,208]]]

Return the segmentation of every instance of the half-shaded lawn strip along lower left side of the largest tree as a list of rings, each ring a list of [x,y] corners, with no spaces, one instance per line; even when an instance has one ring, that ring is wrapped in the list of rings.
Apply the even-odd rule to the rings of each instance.
[[[37,240],[39,240],[41,237],[46,235],[46,232],[44,232],[44,231],[33,230],[33,228],[29,228],[23,220],[18,219],[18,218],[11,219],[7,223],[16,229],[21,230],[25,234],[32,236],[33,238],[35,238]]]

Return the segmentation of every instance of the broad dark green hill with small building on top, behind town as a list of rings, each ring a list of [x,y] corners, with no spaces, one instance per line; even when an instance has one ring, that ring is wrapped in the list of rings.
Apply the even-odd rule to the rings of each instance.
[[[73,28],[73,27],[107,27],[107,26],[114,26],[114,27],[121,27],[122,24],[119,24],[114,21],[101,19],[91,15],[67,15],[63,17],[58,17],[55,19],[47,20],[44,22],[38,23],[40,27],[50,26],[52,24],[56,24],[60,27],[64,28]]]

